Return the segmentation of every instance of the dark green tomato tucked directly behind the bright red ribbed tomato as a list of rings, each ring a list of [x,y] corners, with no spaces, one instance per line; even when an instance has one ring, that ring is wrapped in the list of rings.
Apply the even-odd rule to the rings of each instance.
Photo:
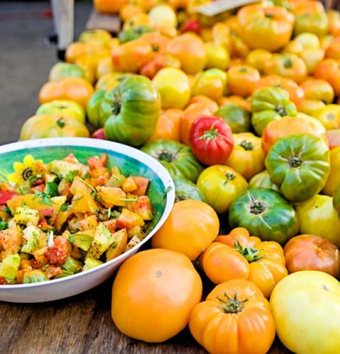
[[[239,105],[222,105],[215,115],[221,117],[232,128],[233,134],[251,130],[250,114]]]

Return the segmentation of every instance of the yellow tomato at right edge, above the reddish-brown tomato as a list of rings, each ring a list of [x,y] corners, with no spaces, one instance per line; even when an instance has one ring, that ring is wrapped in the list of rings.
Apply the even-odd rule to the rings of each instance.
[[[328,195],[314,197],[296,205],[300,232],[314,234],[340,246],[340,219]]]

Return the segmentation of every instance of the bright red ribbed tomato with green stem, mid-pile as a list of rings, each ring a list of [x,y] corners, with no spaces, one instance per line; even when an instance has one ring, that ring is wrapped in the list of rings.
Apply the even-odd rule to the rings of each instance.
[[[203,164],[223,164],[234,147],[232,130],[222,118],[202,115],[191,127],[190,146]]]

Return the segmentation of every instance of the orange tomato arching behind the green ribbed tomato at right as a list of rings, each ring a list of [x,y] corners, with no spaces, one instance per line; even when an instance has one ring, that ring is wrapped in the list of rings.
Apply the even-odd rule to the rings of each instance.
[[[297,108],[300,108],[302,101],[305,98],[305,93],[296,84],[295,81],[291,79],[286,79],[285,77],[279,75],[268,75],[263,76],[256,84],[255,90],[263,89],[268,86],[281,86],[285,91],[289,93],[290,101],[295,103]]]

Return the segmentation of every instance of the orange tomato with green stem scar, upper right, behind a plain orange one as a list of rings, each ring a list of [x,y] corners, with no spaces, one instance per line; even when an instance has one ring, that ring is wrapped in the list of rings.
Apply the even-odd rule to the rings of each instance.
[[[280,75],[292,79],[297,84],[307,78],[305,62],[297,55],[291,53],[273,54],[271,59],[265,62],[263,69],[266,75]]]

